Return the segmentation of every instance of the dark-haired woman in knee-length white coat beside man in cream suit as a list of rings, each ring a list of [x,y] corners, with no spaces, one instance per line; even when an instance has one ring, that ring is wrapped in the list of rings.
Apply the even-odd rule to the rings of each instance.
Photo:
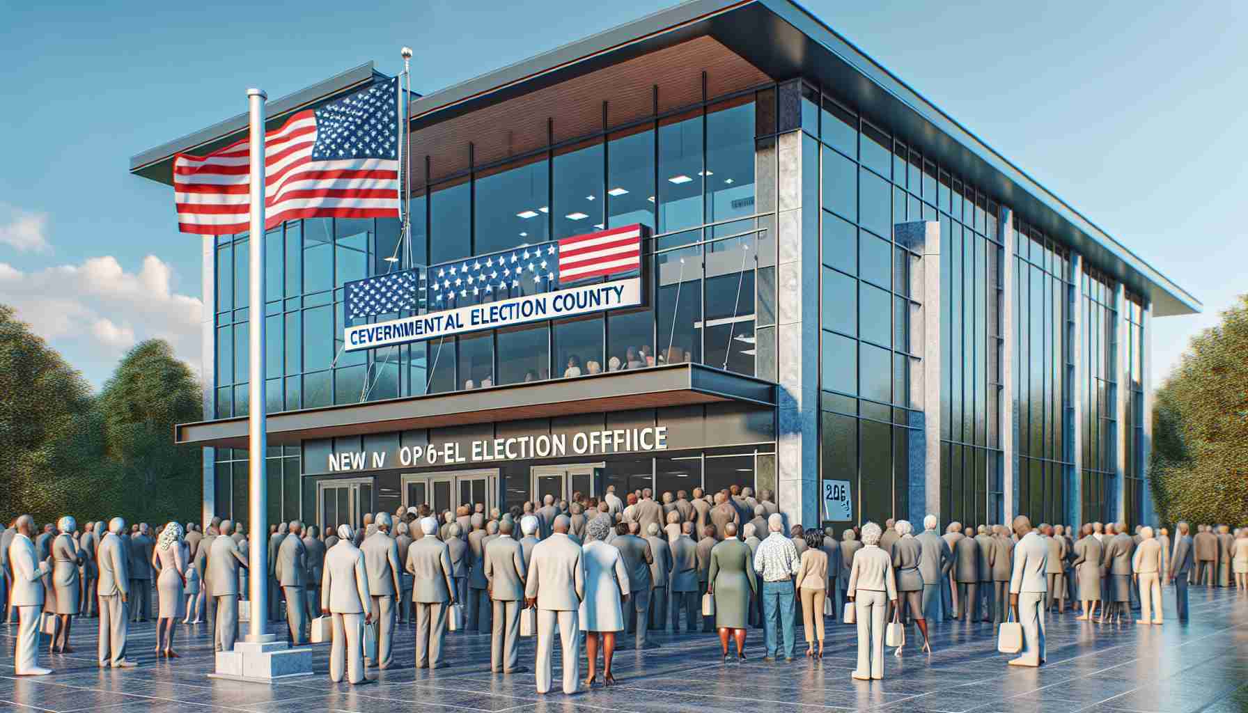
[[[626,526],[625,526],[626,527]],[[598,638],[603,639],[603,683],[615,683],[612,656],[615,653],[615,632],[624,629],[623,603],[628,601],[628,569],[620,551],[607,544],[612,526],[607,518],[595,517],[585,526],[582,562],[585,567],[585,598],[580,601],[580,631],[585,632],[585,653],[589,674],[585,686],[594,684],[598,669]],[[628,529],[624,529],[626,533]],[[641,624],[638,624],[641,626]]]

